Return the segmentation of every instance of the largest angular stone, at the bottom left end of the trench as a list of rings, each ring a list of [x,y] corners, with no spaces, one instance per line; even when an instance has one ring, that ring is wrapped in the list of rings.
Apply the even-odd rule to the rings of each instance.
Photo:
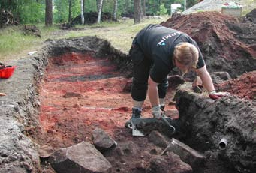
[[[55,151],[49,159],[56,172],[108,173],[110,162],[89,142],[81,142]]]

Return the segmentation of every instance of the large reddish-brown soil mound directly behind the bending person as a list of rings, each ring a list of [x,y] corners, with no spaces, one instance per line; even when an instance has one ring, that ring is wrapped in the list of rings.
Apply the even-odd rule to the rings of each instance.
[[[162,22],[183,31],[197,41],[209,72],[227,71],[233,78],[255,70],[256,44],[253,22],[239,21],[218,12],[173,16]],[[255,36],[254,36],[255,37]]]

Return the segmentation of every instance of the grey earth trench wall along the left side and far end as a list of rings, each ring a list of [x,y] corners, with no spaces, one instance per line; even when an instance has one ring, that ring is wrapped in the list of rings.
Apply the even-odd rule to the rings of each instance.
[[[121,71],[131,69],[127,55],[97,37],[47,40],[35,55],[8,61],[17,69],[11,78],[0,82],[1,92],[7,94],[0,97],[0,172],[39,172],[38,146],[27,135],[38,125],[38,87],[48,57],[66,52],[93,52],[95,56],[104,56],[119,64]]]

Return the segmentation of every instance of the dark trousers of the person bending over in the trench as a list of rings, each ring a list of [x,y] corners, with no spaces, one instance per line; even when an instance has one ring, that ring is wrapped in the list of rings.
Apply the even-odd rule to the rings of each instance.
[[[131,97],[136,101],[143,101],[146,99],[146,92],[148,89],[149,72],[153,62],[146,58],[140,46],[136,43],[136,38],[129,51],[133,62],[133,81],[131,85]],[[167,93],[168,80],[167,76],[163,82],[158,85],[158,96],[164,98]]]

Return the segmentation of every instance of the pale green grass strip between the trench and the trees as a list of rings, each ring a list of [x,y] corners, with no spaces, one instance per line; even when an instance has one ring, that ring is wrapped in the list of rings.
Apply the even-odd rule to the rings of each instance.
[[[45,28],[43,24],[36,25],[41,32],[41,38],[23,34],[23,26],[12,26],[0,30],[0,61],[8,61],[15,58],[24,58],[29,52],[41,49],[44,40],[62,39],[68,37],[97,36],[106,40],[127,53],[130,49],[132,38],[141,28],[149,23],[166,21],[168,16],[162,19],[144,19],[140,24],[134,25],[133,19],[119,22],[102,22],[95,25],[78,25],[76,28],[84,28],[80,31],[64,31],[54,26]]]

